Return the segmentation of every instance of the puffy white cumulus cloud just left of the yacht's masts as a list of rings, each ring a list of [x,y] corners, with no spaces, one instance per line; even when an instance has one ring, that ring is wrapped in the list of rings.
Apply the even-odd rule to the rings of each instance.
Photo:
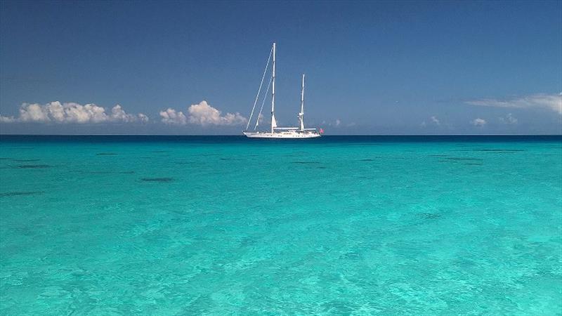
[[[197,124],[201,126],[217,125],[217,126],[234,126],[246,124],[247,119],[242,117],[240,113],[226,113],[211,107],[207,101],[201,101],[199,104],[193,104],[188,107],[188,114],[185,115],[181,111],[168,108],[160,112],[162,122],[165,124]]]

